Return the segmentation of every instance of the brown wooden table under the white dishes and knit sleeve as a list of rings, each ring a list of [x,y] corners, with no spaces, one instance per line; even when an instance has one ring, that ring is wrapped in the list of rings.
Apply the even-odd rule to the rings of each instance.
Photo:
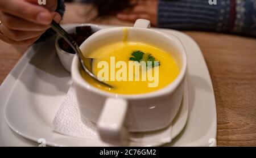
[[[67,5],[63,23],[132,25],[95,18],[91,6]],[[86,17],[86,18],[85,18]],[[256,39],[185,31],[199,44],[210,71],[217,106],[217,145],[256,146]],[[0,83],[27,48],[0,41]]]

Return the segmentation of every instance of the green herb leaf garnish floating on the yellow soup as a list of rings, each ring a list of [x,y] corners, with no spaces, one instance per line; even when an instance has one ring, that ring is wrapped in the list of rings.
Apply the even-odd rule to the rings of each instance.
[[[137,61],[137,62],[141,62],[144,61],[146,62],[146,66],[147,67],[155,67],[155,66],[159,66],[160,63],[158,62],[158,65],[155,65],[155,57],[153,57],[151,54],[149,53],[144,53],[141,50],[136,50],[131,54],[133,57],[130,57],[131,61]],[[148,65],[148,61],[151,61],[151,64]]]

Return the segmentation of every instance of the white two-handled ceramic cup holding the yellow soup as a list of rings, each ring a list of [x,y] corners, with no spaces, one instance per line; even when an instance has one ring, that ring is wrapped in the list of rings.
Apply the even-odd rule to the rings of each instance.
[[[143,42],[171,53],[179,67],[179,75],[174,82],[158,91],[119,95],[102,91],[86,82],[75,57],[71,73],[81,119],[97,123],[100,138],[110,144],[126,142],[128,132],[154,131],[170,125],[181,105],[187,69],[186,53],[180,40],[174,35],[149,29],[150,22],[144,19],[138,19],[134,27],[101,29],[86,39],[80,49],[86,56],[101,46],[120,42],[123,28],[128,29],[127,41]]]

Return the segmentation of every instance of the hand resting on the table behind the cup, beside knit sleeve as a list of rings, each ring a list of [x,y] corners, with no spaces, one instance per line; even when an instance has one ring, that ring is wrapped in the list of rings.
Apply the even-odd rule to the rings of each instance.
[[[130,22],[147,19],[152,25],[157,24],[158,0],[130,0],[130,3],[131,7],[117,14],[118,19]]]

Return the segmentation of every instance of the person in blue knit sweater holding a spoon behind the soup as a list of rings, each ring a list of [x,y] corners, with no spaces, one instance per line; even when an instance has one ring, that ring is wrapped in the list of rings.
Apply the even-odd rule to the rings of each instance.
[[[115,15],[135,22],[148,19],[155,27],[216,31],[256,37],[256,0],[80,0],[97,7],[99,16]],[[0,0],[0,39],[31,45],[54,33],[51,20],[61,21],[64,0]]]

